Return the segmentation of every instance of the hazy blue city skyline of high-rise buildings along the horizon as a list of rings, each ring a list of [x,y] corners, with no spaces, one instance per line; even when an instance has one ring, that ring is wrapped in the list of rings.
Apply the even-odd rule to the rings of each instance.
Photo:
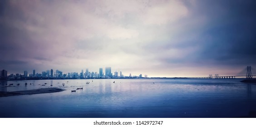
[[[10,74],[7,76],[7,71],[2,70],[0,72],[0,79],[10,79],[10,80],[19,80],[19,79],[66,79],[66,78],[74,78],[74,79],[84,79],[84,78],[148,78],[148,75],[145,75],[144,77],[142,74],[138,76],[132,76],[130,73],[129,76],[124,76],[122,74],[122,71],[114,73],[111,72],[111,67],[106,67],[105,71],[103,72],[103,68],[99,68],[99,73],[97,72],[89,72],[89,69],[86,68],[85,72],[82,69],[81,73],[63,73],[60,70],[56,70],[54,72],[53,69],[43,71],[42,73],[36,73],[35,70],[33,70],[33,73],[28,74],[28,71],[24,71],[23,74],[16,73],[16,74]]]

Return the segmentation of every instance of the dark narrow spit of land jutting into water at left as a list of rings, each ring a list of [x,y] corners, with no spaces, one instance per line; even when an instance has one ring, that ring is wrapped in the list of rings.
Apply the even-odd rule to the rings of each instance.
[[[56,93],[64,91],[64,89],[60,88],[39,88],[32,90],[22,90],[22,91],[13,91],[13,92],[0,92],[0,97],[9,97],[9,96],[17,96],[17,95],[32,95],[32,94],[40,94],[40,93]]]

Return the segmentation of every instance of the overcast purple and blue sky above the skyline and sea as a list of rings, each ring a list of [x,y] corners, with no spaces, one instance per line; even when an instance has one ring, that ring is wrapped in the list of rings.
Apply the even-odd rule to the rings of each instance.
[[[248,65],[256,68],[256,0],[0,0],[8,74],[223,76]]]

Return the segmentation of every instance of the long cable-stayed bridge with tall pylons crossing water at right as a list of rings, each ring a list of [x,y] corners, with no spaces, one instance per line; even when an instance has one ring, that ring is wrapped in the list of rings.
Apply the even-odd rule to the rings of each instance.
[[[208,77],[185,77],[185,78],[216,78],[216,79],[234,79],[234,78],[247,78],[251,79],[252,77],[255,77],[256,75],[252,75],[251,73],[251,66],[247,66],[247,72],[246,75],[231,75],[231,76],[219,76],[219,74],[215,74],[215,76],[212,76],[212,74],[209,74]]]

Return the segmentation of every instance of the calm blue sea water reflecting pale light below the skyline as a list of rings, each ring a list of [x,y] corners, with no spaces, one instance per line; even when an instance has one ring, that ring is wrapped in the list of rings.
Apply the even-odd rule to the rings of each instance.
[[[239,81],[241,79],[1,81],[0,91],[50,87],[65,91],[1,97],[0,117],[242,117],[256,111],[256,84]],[[6,87],[6,83],[14,85]],[[47,84],[42,86],[44,83]]]

